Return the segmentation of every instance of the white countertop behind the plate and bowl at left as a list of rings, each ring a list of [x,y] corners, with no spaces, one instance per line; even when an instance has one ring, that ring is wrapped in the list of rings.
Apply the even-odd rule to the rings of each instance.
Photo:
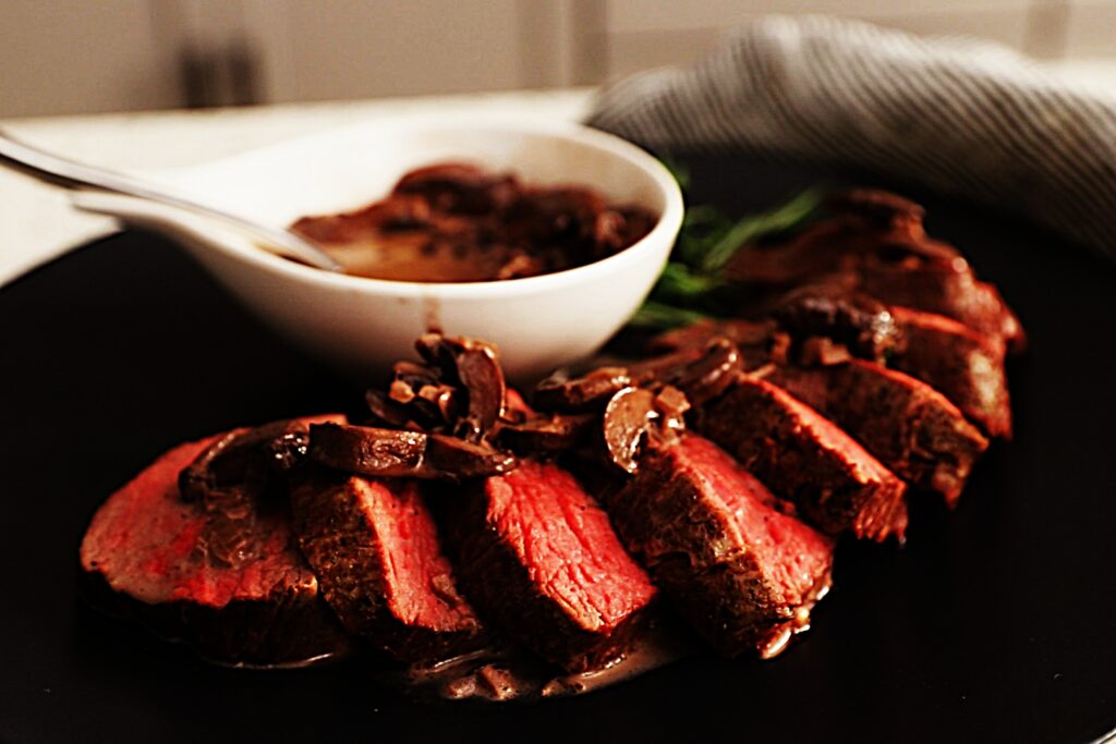
[[[484,110],[574,120],[587,113],[591,96],[591,88],[576,88],[26,118],[0,122],[0,126],[62,155],[144,172],[194,165],[328,127],[401,114],[436,112],[452,118]],[[70,209],[65,193],[0,170],[0,287],[115,229],[112,220]]]

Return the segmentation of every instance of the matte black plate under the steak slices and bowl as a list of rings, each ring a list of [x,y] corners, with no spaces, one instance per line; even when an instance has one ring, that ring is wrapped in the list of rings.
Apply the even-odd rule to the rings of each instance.
[[[690,162],[694,201],[731,212],[814,181]],[[914,195],[1030,334],[1010,369],[1016,441],[993,446],[956,513],[916,502],[905,549],[843,544],[836,589],[782,657],[701,656],[537,706],[420,705],[354,667],[215,668],[85,608],[76,554],[88,519],[160,452],[350,406],[359,389],[147,235],[102,241],[0,291],[0,740],[1104,736],[1116,727],[1116,271],[1022,221]]]

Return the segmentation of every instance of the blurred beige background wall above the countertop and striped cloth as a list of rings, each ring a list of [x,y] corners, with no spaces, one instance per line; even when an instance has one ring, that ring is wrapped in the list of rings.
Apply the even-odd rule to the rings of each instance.
[[[1116,0],[0,0],[0,118],[595,85],[769,12],[1116,64]]]

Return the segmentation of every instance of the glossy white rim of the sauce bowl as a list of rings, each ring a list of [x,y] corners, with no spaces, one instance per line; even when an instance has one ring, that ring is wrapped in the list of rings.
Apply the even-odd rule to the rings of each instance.
[[[581,282],[591,282],[605,276],[612,276],[617,271],[642,261],[648,255],[654,255],[662,243],[667,243],[666,251],[673,245],[674,236],[682,226],[684,203],[682,190],[674,175],[657,158],[637,145],[622,139],[616,135],[594,129],[577,122],[556,122],[552,119],[537,119],[528,117],[511,117],[504,115],[478,114],[471,116],[455,117],[452,123],[446,123],[444,118],[431,116],[429,114],[397,116],[383,119],[382,122],[364,122],[356,125],[341,127],[341,129],[377,128],[391,132],[393,129],[414,132],[422,128],[427,132],[508,132],[541,134],[575,141],[578,144],[587,145],[596,151],[606,153],[608,156],[625,160],[634,164],[639,171],[647,175],[657,186],[663,195],[664,207],[658,215],[654,228],[632,245],[618,253],[607,258],[586,263],[580,267],[565,269],[537,277],[526,277],[521,279],[501,279],[478,282],[417,282],[400,281],[392,279],[373,279],[369,277],[358,277],[345,273],[334,273],[316,269],[290,259],[276,255],[266,250],[252,245],[249,241],[224,241],[211,240],[219,244],[231,258],[252,263],[256,268],[271,274],[280,274],[287,280],[301,283],[315,284],[321,289],[335,289],[340,291],[358,291],[362,293],[383,294],[396,298],[414,299],[494,299],[503,297],[519,297],[533,294],[550,290],[569,288]],[[315,133],[307,137],[297,139],[317,141],[328,139],[336,136],[337,129]],[[287,141],[243,153],[228,161],[204,164],[208,166],[232,166],[241,158],[250,160],[270,149],[279,149],[288,146],[295,141]],[[402,175],[402,174],[401,174]],[[584,184],[593,187],[593,184]],[[665,259],[665,254],[664,254]]]

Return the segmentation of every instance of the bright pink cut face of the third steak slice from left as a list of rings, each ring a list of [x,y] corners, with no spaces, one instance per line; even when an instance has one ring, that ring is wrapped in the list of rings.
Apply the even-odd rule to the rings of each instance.
[[[489,523],[527,567],[531,581],[587,630],[609,632],[655,593],[625,552],[608,515],[573,475],[522,461],[487,485]]]

